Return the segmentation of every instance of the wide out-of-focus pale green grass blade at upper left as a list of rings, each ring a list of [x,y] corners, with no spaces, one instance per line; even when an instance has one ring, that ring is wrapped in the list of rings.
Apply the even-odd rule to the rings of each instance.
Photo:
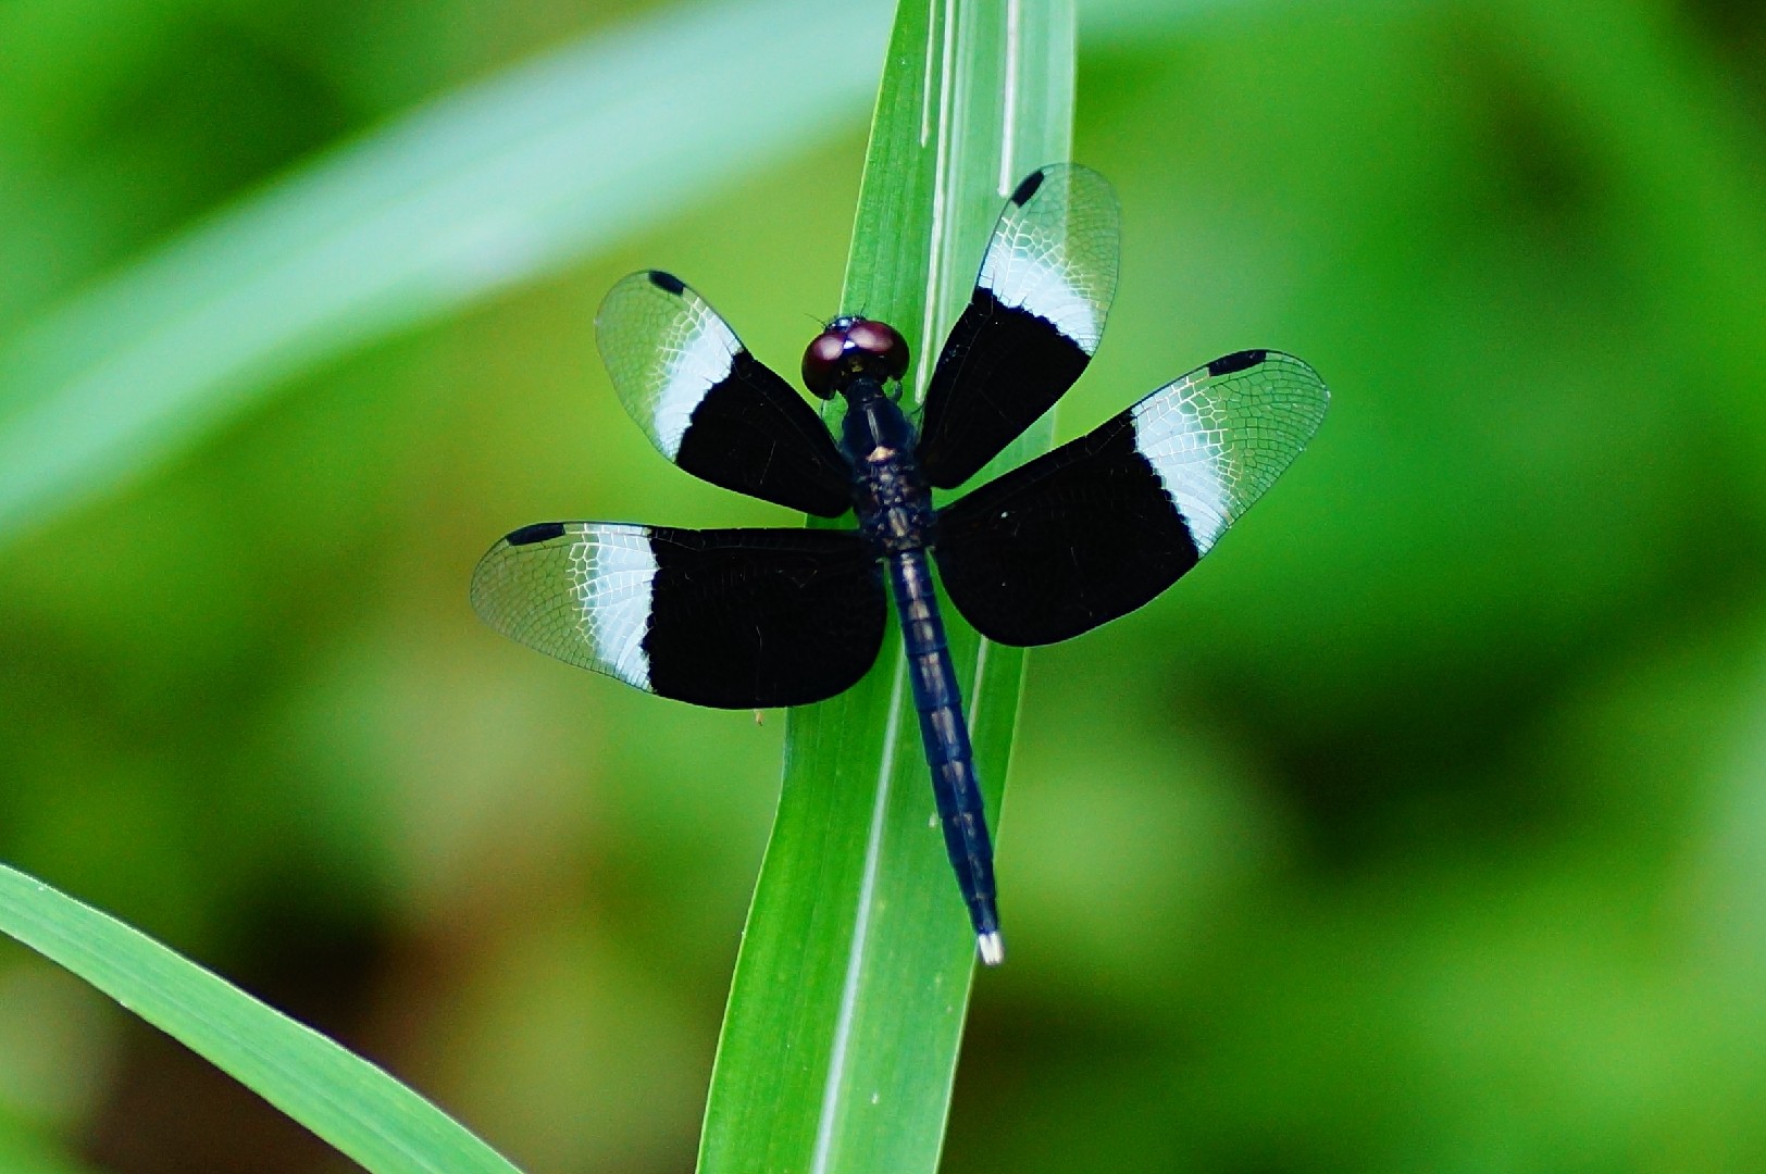
[[[879,0],[726,0],[459,92],[0,339],[0,540],[274,381],[558,268],[860,117]],[[717,111],[706,117],[706,111]],[[586,328],[586,325],[585,325]]]

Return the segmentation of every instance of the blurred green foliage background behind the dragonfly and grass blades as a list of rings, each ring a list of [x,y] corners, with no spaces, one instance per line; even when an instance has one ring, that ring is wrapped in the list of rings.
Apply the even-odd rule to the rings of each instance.
[[[708,11],[7,0],[0,367],[217,210],[298,208],[337,143]],[[1178,590],[1031,655],[945,1169],[1766,1169],[1766,9],[1086,14],[1075,157],[1125,258],[1060,433],[1241,346],[1335,403]],[[526,1169],[689,1169],[782,715],[546,660],[466,579],[530,521],[791,523],[660,461],[590,321],[666,267],[793,367],[842,101],[616,238],[327,325],[0,531],[0,858]],[[0,383],[0,448],[32,394]],[[348,1167],[5,946],[0,1169]]]

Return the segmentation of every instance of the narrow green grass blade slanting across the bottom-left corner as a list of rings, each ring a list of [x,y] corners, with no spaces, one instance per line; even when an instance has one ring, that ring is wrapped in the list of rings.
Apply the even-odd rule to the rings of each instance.
[[[516,1174],[440,1109],[311,1027],[0,865],[0,932],[65,966],[376,1174]]]

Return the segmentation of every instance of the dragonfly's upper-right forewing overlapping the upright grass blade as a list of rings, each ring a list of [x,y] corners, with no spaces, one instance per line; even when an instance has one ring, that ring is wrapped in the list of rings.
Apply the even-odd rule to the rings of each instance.
[[[1017,185],[925,392],[918,455],[934,485],[966,482],[1074,385],[1104,337],[1120,249],[1097,171],[1060,164]]]

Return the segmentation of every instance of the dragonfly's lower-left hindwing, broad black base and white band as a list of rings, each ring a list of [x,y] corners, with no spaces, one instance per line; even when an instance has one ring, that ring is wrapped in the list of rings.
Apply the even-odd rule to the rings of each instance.
[[[493,628],[549,657],[726,710],[821,701],[883,643],[876,554],[849,530],[523,526],[472,576]]]

